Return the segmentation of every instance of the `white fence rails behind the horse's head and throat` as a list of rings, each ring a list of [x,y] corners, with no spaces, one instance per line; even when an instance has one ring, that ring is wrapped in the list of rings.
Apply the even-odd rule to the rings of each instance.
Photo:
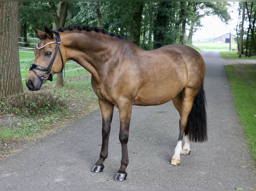
[[[19,38],[19,41],[22,41],[22,39],[24,39],[23,37],[18,37]],[[38,40],[39,42],[39,39],[37,38],[27,38],[27,39],[32,39],[32,40]],[[19,43],[19,52],[25,52],[25,53],[31,53],[31,54],[34,54],[34,52],[28,52],[26,50],[34,50],[35,48],[31,48],[31,47],[22,47],[22,44],[25,45],[25,44],[28,44],[28,45],[33,45],[34,47],[36,47],[37,43],[25,43],[25,42],[18,42]],[[76,62],[67,62],[66,65],[68,64],[74,64]],[[63,68],[63,78],[65,78],[65,73],[66,72],[70,72],[70,71],[74,71],[74,70],[79,70],[79,69],[83,69],[83,67],[80,67],[80,68],[75,68],[75,69],[72,69],[72,70],[65,70],[65,67]],[[26,69],[26,70],[20,70],[21,72],[22,71],[28,71],[29,69]],[[21,80],[26,80],[26,79],[21,79]]]

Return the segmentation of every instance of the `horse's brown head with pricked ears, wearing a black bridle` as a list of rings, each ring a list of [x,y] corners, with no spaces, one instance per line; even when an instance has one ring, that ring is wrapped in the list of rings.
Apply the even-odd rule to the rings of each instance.
[[[26,86],[30,91],[37,91],[42,88],[46,80],[52,81],[52,76],[63,70],[63,62],[60,51],[60,37],[57,31],[51,31],[44,26],[45,32],[33,27],[41,40],[35,49],[35,60],[29,68],[26,78]]]

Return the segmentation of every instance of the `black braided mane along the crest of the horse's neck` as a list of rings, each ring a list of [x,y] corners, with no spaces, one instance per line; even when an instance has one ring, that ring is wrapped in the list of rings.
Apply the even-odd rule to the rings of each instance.
[[[105,29],[100,29],[99,27],[90,27],[90,26],[80,26],[80,25],[76,25],[75,27],[74,26],[68,26],[68,27],[60,27],[57,29],[58,32],[64,32],[66,30],[69,30],[69,31],[73,31],[74,29],[77,29],[79,31],[82,31],[82,30],[86,30],[86,31],[95,31],[95,32],[100,32],[100,33],[103,33],[103,34],[108,34],[110,36],[115,36],[117,38],[120,38],[120,39],[126,39],[125,37],[121,36],[121,35],[118,35],[118,34],[114,34],[114,33],[109,33],[107,32]],[[46,38],[46,35],[43,35],[42,37],[40,37],[39,39],[45,39]]]

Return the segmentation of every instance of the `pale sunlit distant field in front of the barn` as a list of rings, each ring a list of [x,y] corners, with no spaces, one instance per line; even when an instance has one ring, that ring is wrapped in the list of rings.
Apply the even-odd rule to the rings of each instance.
[[[194,42],[192,44],[201,50],[229,50],[229,43]],[[237,49],[237,44],[232,43],[231,49]]]

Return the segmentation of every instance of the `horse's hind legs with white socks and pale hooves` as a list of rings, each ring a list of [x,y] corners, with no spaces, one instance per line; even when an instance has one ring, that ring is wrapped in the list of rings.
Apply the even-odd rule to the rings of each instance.
[[[175,147],[174,155],[172,156],[171,165],[179,165],[180,164],[180,154],[189,154],[190,152],[190,140],[188,134],[185,134],[185,144],[184,144],[184,152],[182,150],[182,138],[184,132],[186,132],[188,115],[193,106],[194,98],[197,94],[197,91],[194,91],[190,88],[184,88],[179,95],[173,98],[173,104],[175,108],[178,110],[180,114],[179,120],[179,138],[178,143]]]

